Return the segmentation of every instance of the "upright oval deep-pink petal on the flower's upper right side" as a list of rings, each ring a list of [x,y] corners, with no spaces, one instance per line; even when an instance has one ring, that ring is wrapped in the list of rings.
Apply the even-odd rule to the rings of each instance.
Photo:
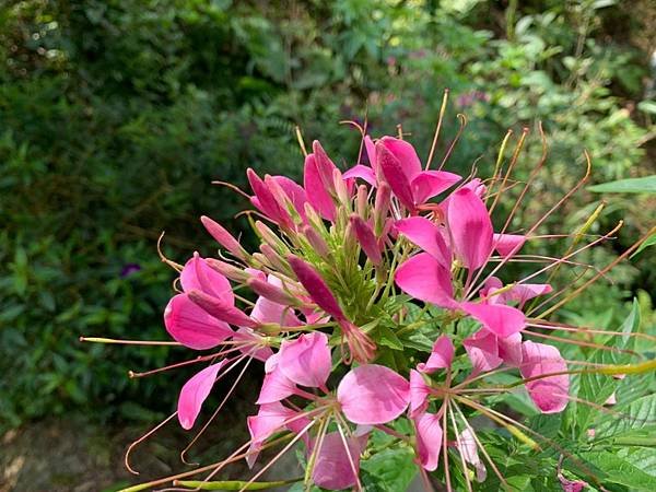
[[[448,199],[448,226],[454,249],[465,267],[482,267],[492,253],[492,222],[483,201],[468,188]]]

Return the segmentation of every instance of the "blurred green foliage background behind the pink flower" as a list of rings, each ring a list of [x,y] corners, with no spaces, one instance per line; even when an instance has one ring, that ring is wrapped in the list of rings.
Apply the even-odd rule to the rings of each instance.
[[[342,157],[355,159],[358,133],[338,121],[362,121],[366,110],[375,137],[402,122],[423,157],[449,87],[437,159],[457,131],[455,114],[466,113],[449,167],[467,174],[482,156],[485,174],[507,128],[542,121],[550,161],[540,200],[519,220],[573,186],[583,149],[595,181],[646,174],[655,106],[643,85],[654,74],[630,35],[648,27],[640,10],[628,17],[599,0],[4,3],[0,372],[10,376],[0,382],[0,426],[72,407],[134,417],[134,401],[162,409],[175,400],[175,376],[136,385],[126,372],[181,351],[78,337],[165,339],[173,273],[156,256],[161,231],[177,261],[212,251],[197,218],[237,231],[231,218],[244,201],[210,181],[244,185],[248,166],[297,177],[294,125],[350,165]],[[537,134],[526,151],[528,163],[539,160]],[[600,227],[629,213],[635,238],[653,220],[641,200],[611,203]],[[554,219],[574,230],[589,212],[573,202]],[[595,306],[574,311],[583,321],[654,285],[649,269],[616,280]],[[155,398],[164,388],[171,398]]]

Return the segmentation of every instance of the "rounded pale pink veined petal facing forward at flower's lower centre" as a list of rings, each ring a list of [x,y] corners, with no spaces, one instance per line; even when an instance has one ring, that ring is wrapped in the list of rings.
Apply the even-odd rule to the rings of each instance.
[[[340,382],[337,399],[347,419],[353,423],[387,423],[408,407],[410,384],[388,367],[361,365]]]

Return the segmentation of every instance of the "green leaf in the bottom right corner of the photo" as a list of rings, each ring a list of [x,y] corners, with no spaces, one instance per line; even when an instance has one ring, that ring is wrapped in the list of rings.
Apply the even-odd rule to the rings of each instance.
[[[648,473],[642,467],[630,460],[608,452],[581,453],[579,457],[596,467],[595,473],[600,481],[619,483],[631,488],[632,491],[656,490],[656,476]]]

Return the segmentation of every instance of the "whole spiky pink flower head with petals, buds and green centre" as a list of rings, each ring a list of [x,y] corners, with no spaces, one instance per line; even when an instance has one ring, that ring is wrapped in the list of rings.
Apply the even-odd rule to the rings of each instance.
[[[304,443],[307,480],[360,489],[361,456],[376,429],[410,444],[422,470],[437,469],[441,452],[456,447],[483,480],[476,430],[465,422],[449,431],[445,409],[500,366],[515,368],[541,412],[565,408],[559,350],[523,339],[524,306],[551,286],[496,276],[530,237],[494,232],[483,181],[422,166],[405,140],[363,141],[371,165],[359,160],[345,173],[315,141],[303,185],[248,169],[258,251],[202,218],[221,259],[187,261],[164,320],[189,349],[221,350],[197,359],[209,365],[183,387],[177,418],[194,427],[215,382],[260,361],[259,411],[247,420],[250,466],[286,433]],[[429,311],[441,323],[422,354],[401,333],[434,323]],[[426,317],[406,321],[411,312]],[[472,331],[455,328],[467,324]],[[400,348],[382,340],[380,325],[398,333]],[[408,419],[413,435],[396,431],[397,419]]]

